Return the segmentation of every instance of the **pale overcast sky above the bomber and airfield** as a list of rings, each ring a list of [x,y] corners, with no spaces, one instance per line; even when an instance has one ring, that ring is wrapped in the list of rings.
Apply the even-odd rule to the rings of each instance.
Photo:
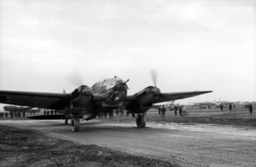
[[[0,0],[0,90],[118,76],[131,95],[151,69],[162,92],[213,91],[180,103],[256,101],[255,1]]]

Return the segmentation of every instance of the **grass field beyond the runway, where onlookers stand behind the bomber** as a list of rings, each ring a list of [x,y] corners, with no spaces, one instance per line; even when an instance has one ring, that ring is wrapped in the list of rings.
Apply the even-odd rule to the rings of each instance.
[[[232,109],[230,112],[229,109],[192,109],[187,108],[188,116],[183,118],[175,116],[174,111],[167,110],[165,114],[165,120],[161,118],[158,114],[158,111],[153,109],[147,112],[146,120],[147,122],[174,122],[174,123],[184,123],[184,124],[219,124],[219,125],[231,125],[231,126],[247,126],[247,127],[256,127],[256,114],[249,114],[248,109],[238,108]],[[109,118],[109,117],[107,117]],[[106,119],[106,118],[104,118]],[[120,122],[134,122],[135,118],[132,118],[131,114],[127,116],[116,116],[112,121]]]

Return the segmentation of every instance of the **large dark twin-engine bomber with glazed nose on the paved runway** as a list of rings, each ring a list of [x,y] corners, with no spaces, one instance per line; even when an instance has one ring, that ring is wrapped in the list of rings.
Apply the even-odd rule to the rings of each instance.
[[[161,93],[156,86],[149,86],[127,96],[126,82],[120,78],[108,78],[92,87],[82,85],[70,94],[26,91],[0,91],[0,103],[63,110],[63,115],[33,116],[34,119],[69,119],[71,130],[80,130],[80,119],[91,120],[100,113],[122,107],[128,113],[137,114],[137,127],[145,127],[143,115],[153,103],[189,98],[212,91]],[[84,118],[84,116],[87,117]]]

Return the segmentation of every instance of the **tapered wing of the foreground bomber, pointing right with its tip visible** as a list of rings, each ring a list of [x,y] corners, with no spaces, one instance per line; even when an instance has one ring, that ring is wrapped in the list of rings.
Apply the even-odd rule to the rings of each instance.
[[[190,98],[193,96],[198,96],[200,94],[206,94],[210,92],[212,91],[186,91],[186,92],[175,92],[175,93],[161,93],[158,100],[156,100],[154,103],[178,100],[183,98]]]

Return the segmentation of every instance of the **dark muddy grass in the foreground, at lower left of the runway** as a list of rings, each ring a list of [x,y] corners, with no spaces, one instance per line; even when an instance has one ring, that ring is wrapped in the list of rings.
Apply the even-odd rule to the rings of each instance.
[[[0,125],[2,167],[178,167],[97,145],[80,145],[39,132]]]

